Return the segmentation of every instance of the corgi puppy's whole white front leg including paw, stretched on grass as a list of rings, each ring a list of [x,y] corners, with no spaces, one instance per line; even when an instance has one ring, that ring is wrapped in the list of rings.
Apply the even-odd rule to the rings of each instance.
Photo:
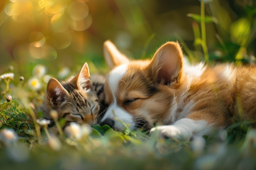
[[[193,136],[207,135],[213,129],[206,120],[183,118],[173,125],[157,126],[150,133],[159,133],[161,137],[189,140]]]

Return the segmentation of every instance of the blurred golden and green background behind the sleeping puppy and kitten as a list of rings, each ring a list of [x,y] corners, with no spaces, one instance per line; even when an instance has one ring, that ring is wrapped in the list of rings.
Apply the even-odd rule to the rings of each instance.
[[[254,61],[256,1],[205,1],[210,58]],[[1,0],[0,73],[12,65],[30,76],[36,64],[56,75],[63,67],[77,72],[88,62],[91,73],[106,73],[102,45],[114,42],[131,58],[151,57],[166,41],[184,44],[184,53],[203,59],[196,43],[200,0]],[[187,46],[187,48],[186,48]],[[189,51],[190,50],[190,51]],[[191,53],[189,53],[191,52]]]

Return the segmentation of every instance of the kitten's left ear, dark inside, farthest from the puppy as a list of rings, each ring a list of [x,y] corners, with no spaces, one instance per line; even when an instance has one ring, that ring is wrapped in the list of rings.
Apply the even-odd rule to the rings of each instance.
[[[47,98],[49,102],[55,108],[58,107],[58,103],[61,102],[61,100],[65,97],[65,95],[68,95],[68,92],[65,90],[65,88],[55,78],[51,78],[49,80],[47,84],[46,92],[47,92]]]

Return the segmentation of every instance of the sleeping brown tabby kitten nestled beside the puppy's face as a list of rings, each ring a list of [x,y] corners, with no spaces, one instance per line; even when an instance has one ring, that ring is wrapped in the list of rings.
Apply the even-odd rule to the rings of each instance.
[[[83,64],[79,73],[64,82],[58,82],[57,79],[51,78],[47,84],[47,94],[45,101],[41,107],[44,117],[52,120],[50,116],[51,110],[56,110],[58,119],[65,118],[67,126],[74,121],[78,124],[94,124],[97,123],[100,106],[99,100],[104,102],[103,76],[93,78],[96,86],[93,86],[90,79],[88,64]],[[98,81],[98,82],[97,82]],[[104,104],[104,103],[103,103]],[[101,109],[103,111],[104,108]],[[49,126],[52,126],[51,121]]]

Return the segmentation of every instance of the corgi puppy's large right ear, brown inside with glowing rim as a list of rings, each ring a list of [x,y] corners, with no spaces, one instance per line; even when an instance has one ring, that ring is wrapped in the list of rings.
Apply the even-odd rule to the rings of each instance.
[[[166,42],[156,52],[149,68],[156,84],[175,88],[182,77],[183,53],[178,42]]]

